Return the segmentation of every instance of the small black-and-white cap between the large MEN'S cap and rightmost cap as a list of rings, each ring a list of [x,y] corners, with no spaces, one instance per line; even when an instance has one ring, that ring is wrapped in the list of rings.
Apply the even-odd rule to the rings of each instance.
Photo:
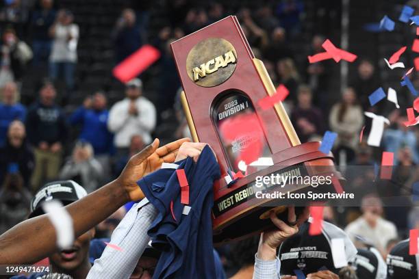
[[[385,279],[387,276],[387,265],[380,252],[373,247],[358,249],[351,266],[358,279]]]

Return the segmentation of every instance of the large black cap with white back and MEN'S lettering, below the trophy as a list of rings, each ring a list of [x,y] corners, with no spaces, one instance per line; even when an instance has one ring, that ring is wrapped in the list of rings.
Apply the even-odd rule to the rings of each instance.
[[[305,275],[319,270],[330,270],[338,274],[340,268],[333,263],[331,239],[344,239],[346,261],[351,261],[357,254],[346,233],[337,226],[323,222],[320,235],[309,235],[311,218],[299,228],[299,232],[283,241],[279,247],[279,261],[281,261],[281,275],[294,275],[295,269],[300,269]]]

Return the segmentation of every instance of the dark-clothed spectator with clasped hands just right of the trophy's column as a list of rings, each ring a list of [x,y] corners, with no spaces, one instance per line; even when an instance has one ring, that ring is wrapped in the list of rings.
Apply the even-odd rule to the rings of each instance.
[[[322,112],[312,105],[312,90],[307,85],[300,85],[297,93],[298,103],[292,109],[291,122],[301,142],[307,142],[312,135],[325,132],[325,119]]]

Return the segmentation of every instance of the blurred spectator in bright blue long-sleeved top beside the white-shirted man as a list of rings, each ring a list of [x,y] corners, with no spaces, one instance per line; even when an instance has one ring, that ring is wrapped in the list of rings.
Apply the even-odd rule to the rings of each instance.
[[[79,139],[92,144],[94,159],[101,163],[104,175],[110,174],[111,156],[114,154],[114,135],[107,129],[109,111],[106,105],[105,94],[96,92],[86,98],[69,121],[73,125],[81,125]]]

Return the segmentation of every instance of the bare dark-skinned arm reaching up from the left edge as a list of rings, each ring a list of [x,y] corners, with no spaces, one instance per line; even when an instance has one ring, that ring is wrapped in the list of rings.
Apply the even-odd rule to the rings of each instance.
[[[136,181],[160,168],[163,162],[173,163],[177,152],[189,139],[157,148],[158,139],[131,157],[123,172],[111,183],[65,208],[73,218],[75,237],[105,220],[123,204],[140,200],[144,194]],[[57,250],[55,228],[47,214],[25,220],[0,235],[0,263],[36,263]]]

